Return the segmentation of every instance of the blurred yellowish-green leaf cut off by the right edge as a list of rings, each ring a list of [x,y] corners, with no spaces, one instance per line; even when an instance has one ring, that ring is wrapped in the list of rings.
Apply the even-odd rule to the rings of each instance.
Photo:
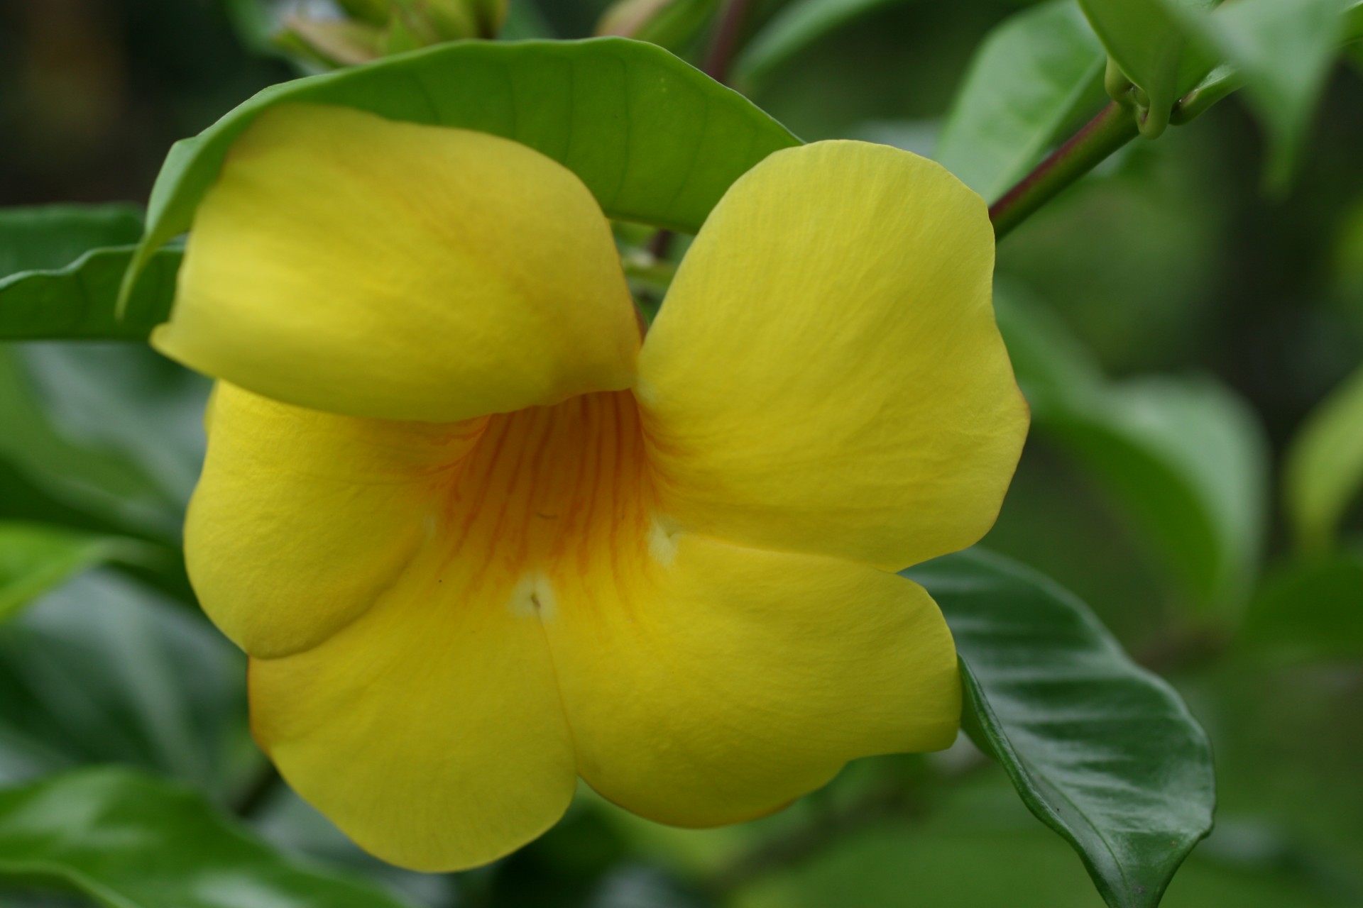
[[[1323,551],[1363,490],[1363,369],[1307,417],[1284,461],[1284,505],[1306,551]]]

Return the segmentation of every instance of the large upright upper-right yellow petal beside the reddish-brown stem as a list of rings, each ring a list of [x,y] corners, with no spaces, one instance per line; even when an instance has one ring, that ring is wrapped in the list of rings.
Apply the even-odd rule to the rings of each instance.
[[[639,357],[662,508],[895,570],[994,523],[1026,406],[983,200],[860,142],[778,151],[687,252]]]

